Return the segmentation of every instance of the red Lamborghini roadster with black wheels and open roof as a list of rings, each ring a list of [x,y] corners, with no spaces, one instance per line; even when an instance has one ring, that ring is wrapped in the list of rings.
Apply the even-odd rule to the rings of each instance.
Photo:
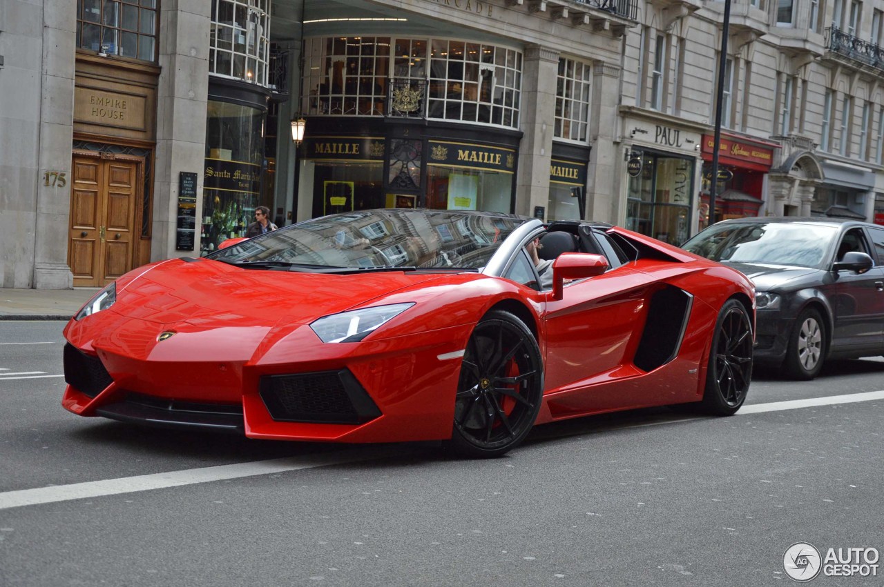
[[[754,299],[737,271],[609,225],[334,214],[111,283],[65,327],[63,404],[249,438],[502,455],[563,418],[734,413]]]

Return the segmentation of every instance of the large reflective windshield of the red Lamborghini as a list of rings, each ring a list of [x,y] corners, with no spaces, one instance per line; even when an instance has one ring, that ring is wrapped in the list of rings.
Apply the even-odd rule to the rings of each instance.
[[[484,267],[526,218],[456,210],[332,214],[274,230],[209,255],[228,263],[313,268]],[[295,267],[297,268],[297,267]]]

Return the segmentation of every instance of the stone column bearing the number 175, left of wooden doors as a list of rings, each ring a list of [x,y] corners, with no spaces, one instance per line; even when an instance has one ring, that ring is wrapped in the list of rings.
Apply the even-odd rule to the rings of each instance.
[[[40,134],[37,169],[31,169],[37,204],[33,285],[39,290],[63,290],[73,287],[73,275],[67,266],[67,237],[71,211],[73,56],[77,14],[76,3],[70,0],[46,0],[42,8]],[[7,144],[3,148],[14,147]],[[64,173],[66,181],[61,184],[56,179],[46,185],[43,174],[47,171]],[[19,282],[13,287],[30,285]]]

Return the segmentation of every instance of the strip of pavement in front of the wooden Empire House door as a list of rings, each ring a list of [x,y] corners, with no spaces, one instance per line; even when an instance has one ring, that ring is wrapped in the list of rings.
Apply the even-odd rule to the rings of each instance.
[[[0,320],[69,320],[98,291],[0,288]]]

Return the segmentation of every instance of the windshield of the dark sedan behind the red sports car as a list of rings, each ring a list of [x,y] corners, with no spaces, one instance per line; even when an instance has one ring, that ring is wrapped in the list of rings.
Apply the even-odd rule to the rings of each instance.
[[[818,267],[838,227],[800,222],[715,224],[682,245],[713,261]]]

